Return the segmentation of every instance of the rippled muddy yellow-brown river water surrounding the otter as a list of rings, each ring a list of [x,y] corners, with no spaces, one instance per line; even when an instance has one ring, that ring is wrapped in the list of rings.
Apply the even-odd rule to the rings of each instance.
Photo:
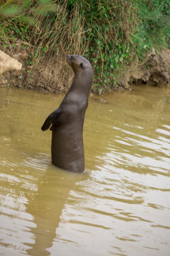
[[[0,88],[0,255],[170,255],[170,88],[89,99],[84,174],[51,164],[63,94]],[[96,97],[97,98],[97,97]]]

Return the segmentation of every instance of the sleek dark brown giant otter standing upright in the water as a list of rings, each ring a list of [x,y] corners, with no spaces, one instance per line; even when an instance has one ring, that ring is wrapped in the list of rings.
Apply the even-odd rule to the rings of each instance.
[[[83,172],[83,123],[93,71],[90,62],[80,55],[67,55],[66,61],[74,71],[73,83],[61,105],[47,117],[41,129],[46,131],[52,124],[52,164],[67,171]]]

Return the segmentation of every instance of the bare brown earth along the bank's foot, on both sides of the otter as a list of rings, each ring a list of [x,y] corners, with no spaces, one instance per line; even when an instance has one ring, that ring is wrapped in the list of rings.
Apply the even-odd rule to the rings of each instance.
[[[56,58],[44,58],[36,67],[31,66],[27,55],[23,53],[15,55],[15,58],[22,63],[22,71],[5,72],[0,75],[0,86],[9,82],[15,87],[41,90],[44,92],[67,92],[73,73],[66,64],[65,56]],[[153,86],[170,85],[170,50],[164,49],[156,53],[153,49],[146,55],[144,63],[138,59],[131,61],[126,67],[126,72],[119,74],[116,85],[112,90],[132,89],[136,84],[148,84]],[[104,91],[110,88],[104,88]],[[92,86],[92,92],[96,92]]]

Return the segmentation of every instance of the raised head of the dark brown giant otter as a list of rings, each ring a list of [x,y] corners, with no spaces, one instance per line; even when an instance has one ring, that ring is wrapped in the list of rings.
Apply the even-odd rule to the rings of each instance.
[[[67,55],[66,61],[72,67],[75,73],[82,72],[88,70],[88,72],[92,72],[92,66],[88,60],[80,55]]]

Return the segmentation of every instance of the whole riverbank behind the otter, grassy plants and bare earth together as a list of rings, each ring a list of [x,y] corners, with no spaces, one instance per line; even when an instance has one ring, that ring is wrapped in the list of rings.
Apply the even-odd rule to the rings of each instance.
[[[168,0],[7,0],[0,19],[0,50],[23,68],[0,77],[1,85],[67,92],[73,80],[68,54],[90,61],[96,94],[169,83]]]

